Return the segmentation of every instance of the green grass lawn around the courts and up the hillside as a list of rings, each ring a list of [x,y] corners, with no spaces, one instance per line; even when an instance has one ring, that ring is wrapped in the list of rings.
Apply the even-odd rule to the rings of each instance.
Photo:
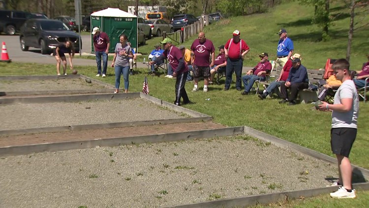
[[[337,5],[332,4],[331,8]],[[339,11],[339,7],[335,12]],[[254,66],[259,58],[257,54],[268,52],[272,59],[276,58],[278,35],[280,27],[286,28],[289,36],[294,40],[295,52],[303,56],[303,65],[308,69],[322,68],[327,58],[342,58],[345,56],[348,18],[342,18],[334,22],[330,35],[330,42],[317,42],[320,29],[310,25],[308,18],[313,13],[313,8],[301,6],[295,2],[278,5],[271,9],[270,13],[255,14],[244,17],[234,17],[223,20],[205,29],[207,38],[213,40],[215,46],[224,44],[231,37],[233,30],[241,31],[242,38],[246,39],[251,50],[245,61],[246,66]],[[288,11],[288,12],[287,12]],[[369,17],[366,17],[369,18]],[[367,30],[359,30],[355,34],[351,56],[351,69],[359,69],[366,61],[365,54],[368,47],[369,36]],[[195,39],[193,36],[192,39]],[[147,45],[139,47],[139,52],[148,54],[153,50],[154,44],[161,37],[155,37],[147,41]],[[191,41],[184,42],[190,46]],[[368,45],[368,44],[367,44]],[[44,75],[55,74],[54,65],[0,63],[1,75]],[[95,67],[75,66],[79,73],[94,77]],[[68,69],[69,70],[69,69]],[[129,91],[141,92],[147,69],[139,69],[139,73],[129,76]],[[106,78],[97,77],[114,85],[114,69],[108,69]],[[164,101],[173,103],[175,98],[174,79],[160,77],[148,77],[150,95]],[[222,85],[211,85],[208,93],[198,91],[190,92],[193,84],[187,83],[185,88],[192,102],[195,104],[184,107],[213,116],[214,122],[228,126],[249,126],[267,134],[287,141],[305,146],[326,155],[333,156],[330,150],[331,114],[311,110],[312,104],[299,104],[287,106],[278,104],[278,99],[260,101],[255,95],[242,96],[234,89],[234,84],[229,91],[222,91]],[[123,84],[123,83],[122,83]],[[203,81],[199,82],[202,89]],[[210,98],[210,100],[206,100]],[[369,169],[369,103],[360,102],[358,119],[358,134],[353,145],[350,160],[353,164]],[[307,200],[298,200],[282,205],[274,204],[271,207],[365,207],[369,204],[369,192],[361,191],[356,200],[334,200],[326,195]]]

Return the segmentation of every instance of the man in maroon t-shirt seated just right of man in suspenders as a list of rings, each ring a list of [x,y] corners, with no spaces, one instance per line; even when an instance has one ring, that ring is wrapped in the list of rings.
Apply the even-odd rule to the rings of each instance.
[[[252,85],[256,80],[265,80],[265,74],[270,73],[272,70],[272,64],[268,61],[268,54],[267,53],[261,53],[259,55],[260,62],[254,67],[254,69],[251,69],[247,71],[246,75],[242,77],[242,82],[244,83],[245,91],[241,93],[241,95],[247,95]]]

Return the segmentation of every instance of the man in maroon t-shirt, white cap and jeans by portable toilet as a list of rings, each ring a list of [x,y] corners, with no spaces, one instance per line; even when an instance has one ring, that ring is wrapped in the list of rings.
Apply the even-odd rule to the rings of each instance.
[[[100,32],[100,29],[95,27],[92,30],[93,50],[95,51],[97,74],[101,75],[101,56],[102,56],[102,77],[106,76],[106,69],[108,68],[108,53],[110,47],[109,36]]]

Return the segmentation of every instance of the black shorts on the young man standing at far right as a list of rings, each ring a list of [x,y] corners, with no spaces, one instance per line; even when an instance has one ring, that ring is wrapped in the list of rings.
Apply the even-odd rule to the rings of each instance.
[[[352,144],[356,139],[357,129],[353,128],[332,128],[331,129],[331,149],[333,154],[348,157]]]

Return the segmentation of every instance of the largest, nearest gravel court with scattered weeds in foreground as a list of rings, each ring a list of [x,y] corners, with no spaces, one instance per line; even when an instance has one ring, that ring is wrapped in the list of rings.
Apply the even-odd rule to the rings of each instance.
[[[325,187],[334,165],[247,136],[0,159],[0,207],[152,208]]]

